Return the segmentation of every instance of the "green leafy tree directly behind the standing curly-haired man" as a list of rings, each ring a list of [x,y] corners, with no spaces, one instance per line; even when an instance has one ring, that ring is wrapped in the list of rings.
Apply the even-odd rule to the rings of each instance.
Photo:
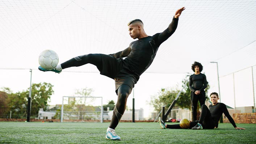
[[[174,109],[180,107],[182,109],[191,110],[191,98],[190,98],[191,90],[189,89],[189,84],[187,83],[185,85],[185,82],[186,82],[186,79],[182,80],[182,88],[184,89],[182,90],[179,98],[177,99],[177,102],[173,107]],[[207,96],[207,90],[209,88],[210,86],[207,84],[207,88],[205,89],[206,96]],[[158,93],[158,96],[151,96],[151,101],[149,104],[154,107],[155,111],[161,111],[162,106],[165,106],[168,108],[171,105],[171,103],[177,97],[177,94],[179,92],[180,90],[177,88],[172,88],[172,89],[162,88]],[[208,97],[206,98],[209,99]]]

